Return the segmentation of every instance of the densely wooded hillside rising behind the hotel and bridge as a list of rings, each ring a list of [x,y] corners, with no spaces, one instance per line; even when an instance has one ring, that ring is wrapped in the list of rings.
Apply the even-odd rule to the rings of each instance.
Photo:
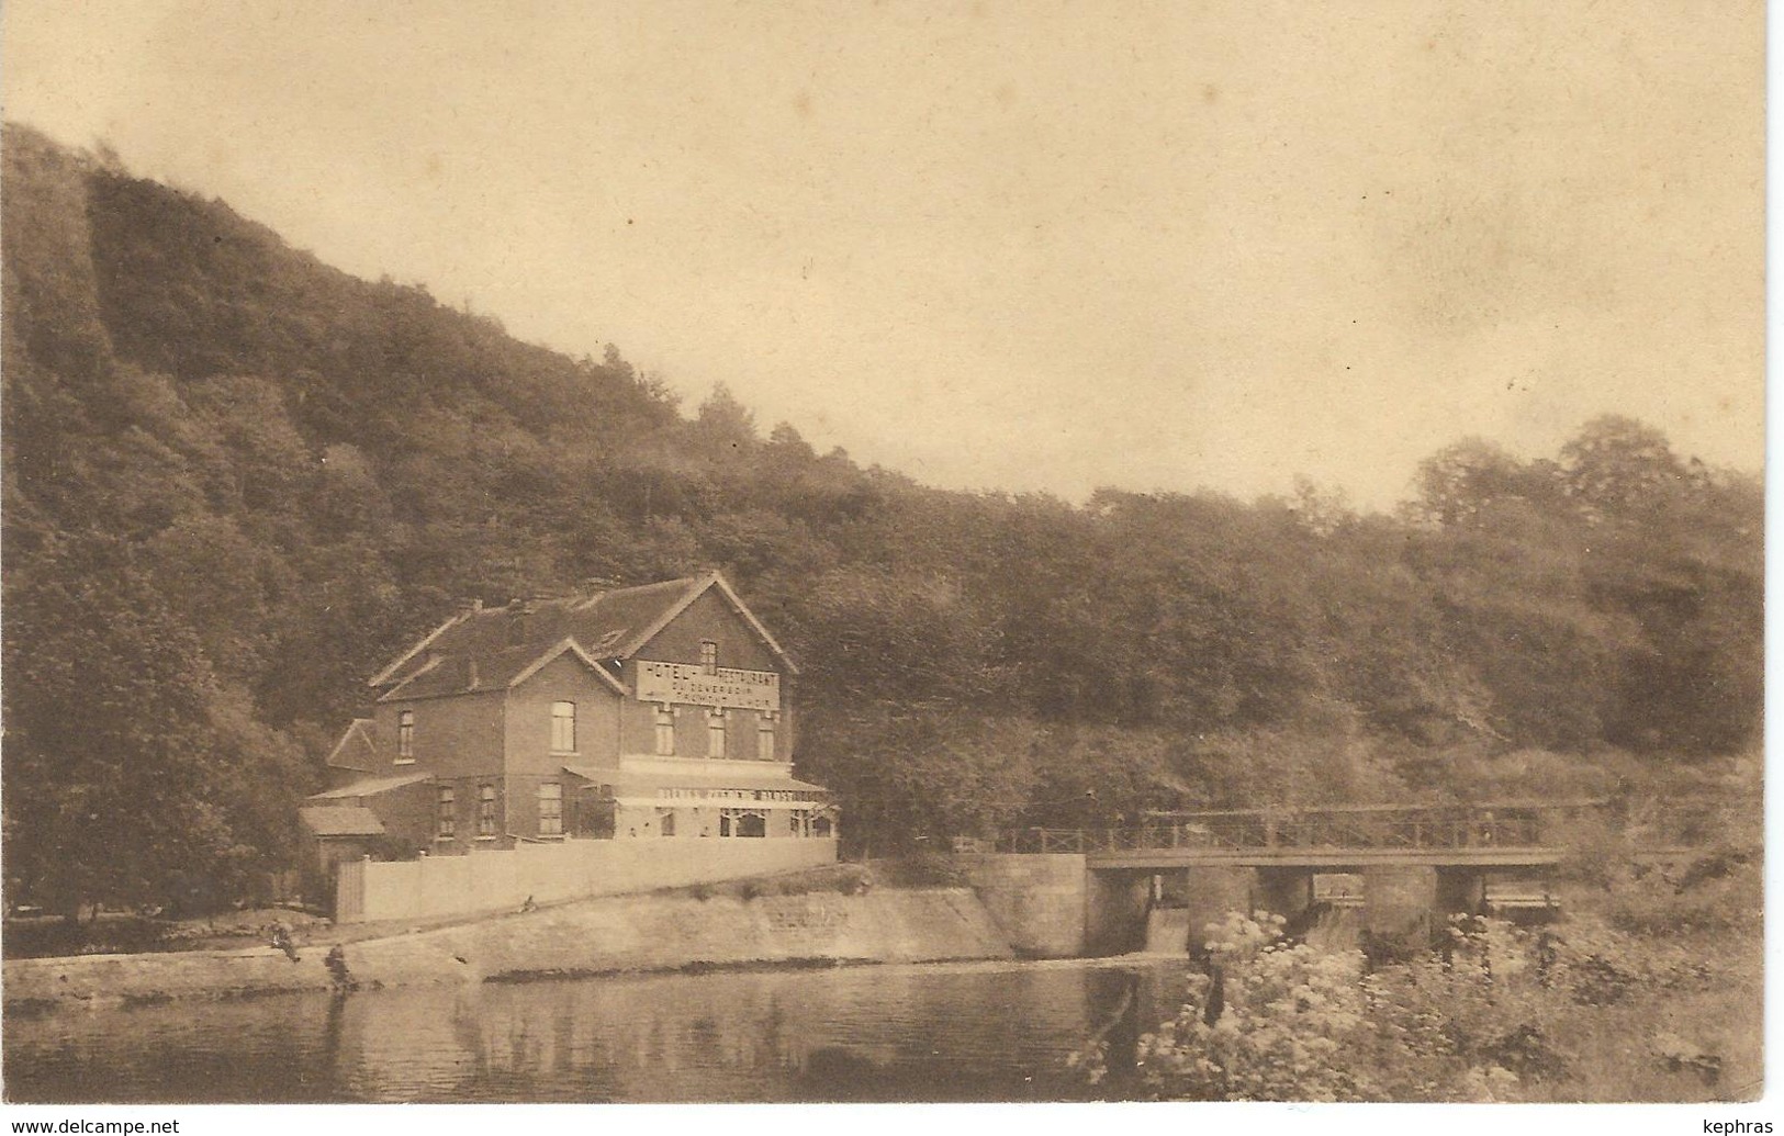
[[[366,676],[591,576],[724,569],[876,849],[1754,740],[1759,485],[1639,423],[1452,446],[1399,515],[942,492],[29,130],[4,159],[11,899],[252,888]]]

